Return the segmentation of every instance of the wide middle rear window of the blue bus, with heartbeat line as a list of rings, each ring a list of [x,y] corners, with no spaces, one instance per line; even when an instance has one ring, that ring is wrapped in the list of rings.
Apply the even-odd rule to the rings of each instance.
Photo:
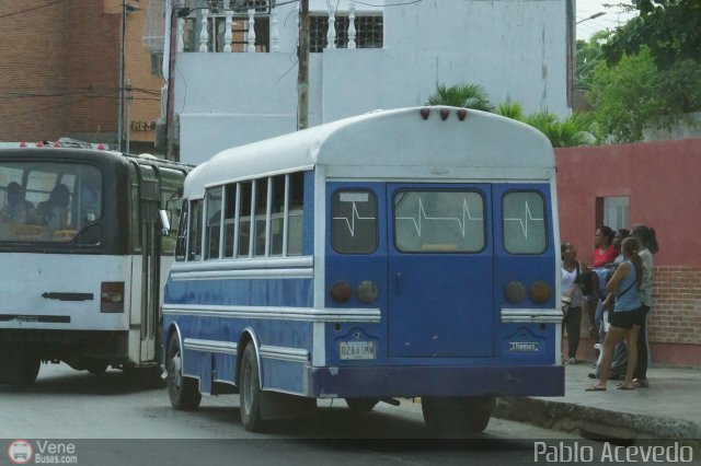
[[[394,242],[403,253],[479,253],[484,199],[469,190],[402,190],[394,196]]]

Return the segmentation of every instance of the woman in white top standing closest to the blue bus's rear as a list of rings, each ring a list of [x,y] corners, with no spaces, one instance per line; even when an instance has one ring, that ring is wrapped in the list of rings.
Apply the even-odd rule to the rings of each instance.
[[[562,254],[562,325],[567,330],[567,363],[577,363],[577,348],[579,347],[579,330],[582,328],[582,290],[575,280],[584,267],[577,260],[577,249],[572,243],[563,243]]]

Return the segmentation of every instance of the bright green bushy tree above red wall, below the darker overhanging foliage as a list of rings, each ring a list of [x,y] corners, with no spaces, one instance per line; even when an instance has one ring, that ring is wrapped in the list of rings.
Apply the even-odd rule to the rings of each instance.
[[[616,142],[636,142],[647,128],[670,128],[701,108],[701,66],[681,60],[658,69],[642,47],[617,66],[599,63],[589,91],[602,133]]]

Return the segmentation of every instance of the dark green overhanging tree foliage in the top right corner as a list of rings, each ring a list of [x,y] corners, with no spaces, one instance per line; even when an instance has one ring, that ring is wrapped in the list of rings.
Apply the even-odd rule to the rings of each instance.
[[[660,69],[677,62],[701,63],[701,0],[633,0],[639,11],[604,45],[609,65],[650,50]]]

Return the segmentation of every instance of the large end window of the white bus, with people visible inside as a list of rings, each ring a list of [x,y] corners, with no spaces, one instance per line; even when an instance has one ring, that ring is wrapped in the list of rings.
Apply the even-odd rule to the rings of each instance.
[[[0,164],[0,242],[70,242],[102,217],[96,166],[57,162]]]

